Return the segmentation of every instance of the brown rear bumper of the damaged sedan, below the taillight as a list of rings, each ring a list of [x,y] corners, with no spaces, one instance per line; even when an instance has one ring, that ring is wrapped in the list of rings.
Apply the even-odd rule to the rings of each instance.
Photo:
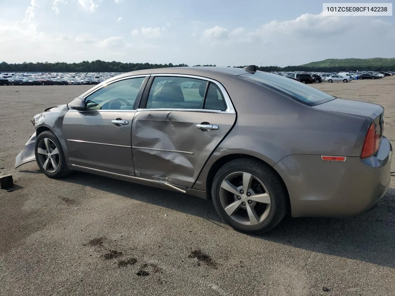
[[[378,152],[361,161],[322,161],[320,155],[289,155],[274,168],[288,189],[293,217],[344,217],[374,208],[388,190],[392,146],[383,137]]]

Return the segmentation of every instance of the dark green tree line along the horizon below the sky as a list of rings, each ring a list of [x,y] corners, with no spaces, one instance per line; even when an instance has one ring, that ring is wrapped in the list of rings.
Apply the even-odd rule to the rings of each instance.
[[[216,66],[216,65],[194,65],[194,66]],[[65,62],[23,62],[21,64],[0,63],[0,72],[130,72],[135,70],[188,67],[187,64],[150,64],[150,63],[122,63],[105,62],[102,60],[83,61],[80,63]],[[231,67],[231,66],[228,66]],[[233,66],[245,67],[245,66]],[[306,67],[306,66],[263,66],[258,67],[260,71],[318,71],[318,72],[341,72],[341,71],[395,71],[395,65],[390,66],[334,66],[334,67]]]

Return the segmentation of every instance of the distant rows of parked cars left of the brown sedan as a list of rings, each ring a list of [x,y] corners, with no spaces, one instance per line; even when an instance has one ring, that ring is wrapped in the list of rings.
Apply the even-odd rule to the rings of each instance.
[[[92,85],[119,73],[0,73],[0,85]]]

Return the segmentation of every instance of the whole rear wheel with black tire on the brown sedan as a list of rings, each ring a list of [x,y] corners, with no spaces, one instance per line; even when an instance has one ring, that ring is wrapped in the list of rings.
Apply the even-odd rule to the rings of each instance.
[[[250,158],[230,161],[218,170],[213,203],[232,228],[251,234],[273,229],[286,214],[286,189],[271,167]]]

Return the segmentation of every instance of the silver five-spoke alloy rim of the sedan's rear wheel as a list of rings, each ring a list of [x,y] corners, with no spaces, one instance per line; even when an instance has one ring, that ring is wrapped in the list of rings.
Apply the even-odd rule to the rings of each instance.
[[[270,212],[271,199],[265,185],[247,172],[233,172],[220,187],[220,202],[226,214],[243,225],[258,225]]]

